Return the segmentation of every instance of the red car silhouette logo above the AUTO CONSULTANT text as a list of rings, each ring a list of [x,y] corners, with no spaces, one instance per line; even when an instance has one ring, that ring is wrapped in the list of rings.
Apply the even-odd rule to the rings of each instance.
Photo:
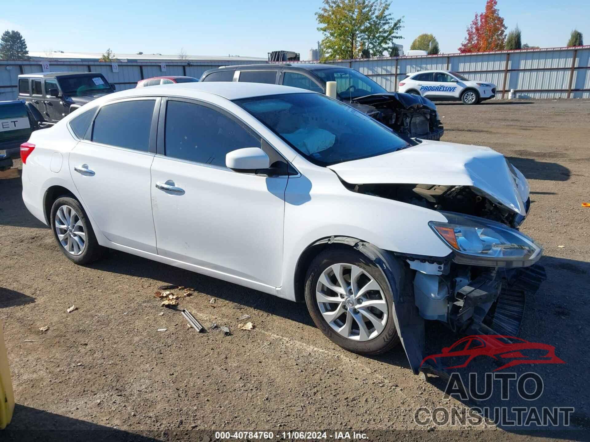
[[[459,339],[442,353],[430,355],[422,360],[435,367],[463,368],[477,356],[489,356],[506,364],[494,371],[520,364],[565,364],[555,356],[555,347],[539,342],[503,335],[472,335]]]

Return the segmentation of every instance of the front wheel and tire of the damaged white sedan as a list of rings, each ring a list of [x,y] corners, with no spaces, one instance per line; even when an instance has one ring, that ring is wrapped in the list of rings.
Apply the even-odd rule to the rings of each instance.
[[[341,279],[347,285],[345,288],[339,284],[339,279],[335,278],[336,275],[333,272],[333,269],[338,269],[339,266],[344,269],[341,272]],[[355,277],[355,289],[350,292],[350,275],[353,266],[356,267],[355,274],[359,276]],[[350,271],[348,271],[348,267],[350,267]],[[326,274],[332,275],[329,277],[331,278],[330,281],[327,282],[332,283],[332,287],[339,290],[339,292],[333,291],[323,282],[319,284],[320,278],[322,278],[322,281],[326,281],[323,278]],[[361,294],[362,288],[369,282],[371,287],[378,287],[378,290],[364,292],[360,296],[363,301],[358,304],[359,299],[355,301],[355,295]],[[361,355],[376,355],[388,351],[399,342],[393,312],[394,296],[389,289],[390,285],[395,290],[395,283],[388,284],[381,269],[358,250],[350,249],[347,246],[333,246],[317,255],[310,264],[305,282],[305,302],[317,328],[332,342],[348,351]],[[348,295],[342,295],[342,293],[347,292]],[[324,293],[329,296],[329,299],[334,299],[334,302],[322,302],[320,307],[318,296],[323,296]],[[367,302],[379,305],[379,308],[365,304]],[[363,308],[363,304],[369,306]],[[351,305],[354,305],[354,307]],[[346,310],[343,310],[344,308]],[[342,311],[342,313],[339,314],[338,311]],[[365,314],[361,311],[365,312]],[[381,330],[378,330],[375,325],[377,322],[368,319],[366,312],[371,314],[373,318],[378,319],[378,326]],[[332,314],[332,321],[328,321],[324,314],[327,316]],[[379,315],[381,316],[379,317]],[[363,321],[365,322],[364,336],[362,336],[361,326],[357,318],[365,319]],[[350,326],[347,325],[348,321],[350,321]],[[337,331],[338,328],[342,331]]]

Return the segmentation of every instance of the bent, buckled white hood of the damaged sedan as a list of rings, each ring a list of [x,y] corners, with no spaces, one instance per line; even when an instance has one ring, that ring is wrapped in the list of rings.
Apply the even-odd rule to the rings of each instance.
[[[392,153],[329,166],[351,184],[471,186],[520,215],[526,215],[529,184],[516,167],[489,147],[422,141]]]

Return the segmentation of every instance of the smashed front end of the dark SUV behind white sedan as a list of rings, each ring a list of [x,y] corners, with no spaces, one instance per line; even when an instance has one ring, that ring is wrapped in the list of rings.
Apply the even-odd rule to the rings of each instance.
[[[438,141],[444,134],[436,105],[420,95],[372,94],[353,98],[350,105],[409,138]]]

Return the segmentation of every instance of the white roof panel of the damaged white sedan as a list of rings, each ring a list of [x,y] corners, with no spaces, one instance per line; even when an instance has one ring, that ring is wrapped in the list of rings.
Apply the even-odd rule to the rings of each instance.
[[[164,84],[147,88],[127,89],[114,94],[109,94],[109,100],[116,99],[117,97],[133,97],[134,95],[181,95],[188,98],[198,98],[198,93],[200,92],[219,95],[219,97],[227,98],[227,100],[238,100],[239,98],[261,97],[263,95],[277,94],[313,94],[312,91],[278,84],[206,81],[204,83]]]

